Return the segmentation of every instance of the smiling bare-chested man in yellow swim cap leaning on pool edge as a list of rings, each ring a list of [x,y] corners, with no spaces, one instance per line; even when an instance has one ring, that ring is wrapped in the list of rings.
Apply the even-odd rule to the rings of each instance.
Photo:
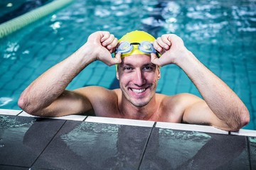
[[[95,60],[109,66],[118,64],[120,89],[87,86],[65,90]],[[204,100],[192,94],[156,94],[161,76],[159,67],[166,64],[181,67]],[[239,130],[250,120],[240,98],[186,49],[181,38],[166,34],[155,40],[143,31],[127,33],[119,42],[106,31],[92,33],[73,55],[33,81],[21,94],[18,106],[39,116],[62,116],[93,109],[97,116],[213,125],[230,131]]]

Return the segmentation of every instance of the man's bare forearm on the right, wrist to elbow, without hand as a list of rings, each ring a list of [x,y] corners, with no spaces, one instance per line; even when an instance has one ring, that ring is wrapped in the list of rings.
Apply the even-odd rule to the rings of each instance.
[[[193,81],[210,110],[230,129],[239,129],[248,123],[249,113],[240,98],[191,52],[186,51],[176,64]]]

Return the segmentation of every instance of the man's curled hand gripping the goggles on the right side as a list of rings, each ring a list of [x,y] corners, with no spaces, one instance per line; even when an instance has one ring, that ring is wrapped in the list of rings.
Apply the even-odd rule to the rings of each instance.
[[[154,48],[161,53],[161,57],[151,53],[151,62],[159,66],[176,64],[179,57],[187,55],[188,52],[183,40],[174,34],[164,34],[154,40]]]

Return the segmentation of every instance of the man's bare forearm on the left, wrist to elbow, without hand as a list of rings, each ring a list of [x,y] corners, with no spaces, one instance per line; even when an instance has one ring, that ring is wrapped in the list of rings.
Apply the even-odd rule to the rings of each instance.
[[[70,81],[93,62],[86,44],[70,57],[48,69],[21,94],[18,106],[28,113],[42,110],[63,94]]]

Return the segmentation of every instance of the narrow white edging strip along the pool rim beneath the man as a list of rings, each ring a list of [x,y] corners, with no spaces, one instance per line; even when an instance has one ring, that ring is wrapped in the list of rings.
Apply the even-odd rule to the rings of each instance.
[[[11,110],[11,109],[0,109],[0,115],[17,115],[17,116],[27,116],[27,117],[37,117],[33,115],[29,115],[25,111],[22,110]],[[187,130],[187,131],[197,131],[197,132],[209,132],[209,133],[217,133],[228,135],[229,132],[225,130],[220,130],[218,128],[214,128],[212,126],[207,125],[191,125],[191,124],[183,124],[183,123],[165,123],[165,122],[154,122],[148,120],[132,120],[132,119],[124,119],[124,118],[105,118],[105,117],[96,117],[96,116],[87,116],[87,115],[66,115],[53,119],[62,119],[62,120],[77,120],[77,121],[85,121],[91,123],[109,123],[109,124],[117,124],[117,125],[134,125],[134,126],[142,126],[142,127],[154,127],[154,123],[156,123],[156,128],[166,128],[173,130]],[[248,136],[248,137],[256,137],[256,130],[245,130],[241,129],[238,132],[230,132],[230,135],[239,135],[239,136]]]

